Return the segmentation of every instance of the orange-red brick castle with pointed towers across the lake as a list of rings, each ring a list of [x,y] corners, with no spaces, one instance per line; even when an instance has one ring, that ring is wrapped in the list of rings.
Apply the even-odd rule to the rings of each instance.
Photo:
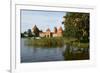
[[[46,32],[39,31],[36,25],[32,28],[32,31],[34,32],[36,29],[38,31],[37,34],[39,37],[49,37],[50,38],[50,37],[62,37],[63,36],[63,29],[61,26],[58,29],[54,27],[53,32],[50,31],[50,28],[48,28]]]

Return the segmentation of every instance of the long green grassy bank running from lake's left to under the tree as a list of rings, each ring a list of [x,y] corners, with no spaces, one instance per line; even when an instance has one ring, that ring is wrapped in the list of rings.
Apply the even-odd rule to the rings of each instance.
[[[27,45],[33,45],[35,47],[63,47],[65,44],[79,47],[79,48],[89,48],[89,43],[79,42],[75,38],[64,38],[64,37],[56,37],[56,38],[41,38],[41,39],[32,39],[28,38],[26,41]]]

